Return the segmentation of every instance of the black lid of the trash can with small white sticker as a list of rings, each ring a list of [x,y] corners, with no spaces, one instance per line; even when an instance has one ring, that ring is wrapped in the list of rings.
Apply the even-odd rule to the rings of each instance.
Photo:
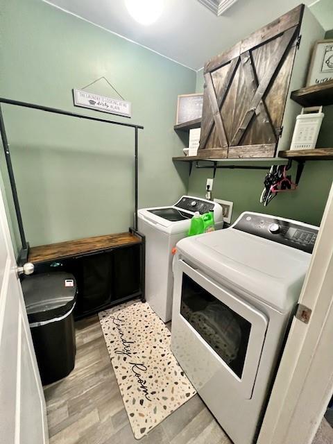
[[[60,318],[73,308],[76,300],[75,278],[62,271],[26,276],[22,289],[29,323]]]

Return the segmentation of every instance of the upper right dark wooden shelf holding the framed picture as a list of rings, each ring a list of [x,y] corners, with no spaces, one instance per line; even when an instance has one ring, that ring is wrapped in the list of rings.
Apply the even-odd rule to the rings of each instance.
[[[303,107],[333,105],[333,80],[297,89],[291,93],[291,99]]]

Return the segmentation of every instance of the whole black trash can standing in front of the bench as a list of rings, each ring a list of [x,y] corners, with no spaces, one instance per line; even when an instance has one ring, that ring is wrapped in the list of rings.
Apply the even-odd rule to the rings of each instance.
[[[69,273],[41,273],[26,276],[22,289],[42,384],[51,384],[75,365],[76,281]]]

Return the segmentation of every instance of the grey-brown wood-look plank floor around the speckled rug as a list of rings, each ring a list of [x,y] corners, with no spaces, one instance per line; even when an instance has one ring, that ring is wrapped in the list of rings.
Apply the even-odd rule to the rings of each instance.
[[[44,388],[50,444],[230,444],[198,395],[137,441],[97,316],[76,323],[76,345],[73,372]]]

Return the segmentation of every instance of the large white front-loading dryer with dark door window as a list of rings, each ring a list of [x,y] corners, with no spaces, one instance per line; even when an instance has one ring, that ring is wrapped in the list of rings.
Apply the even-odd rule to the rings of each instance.
[[[235,444],[257,437],[317,232],[248,212],[177,244],[171,349]]]

